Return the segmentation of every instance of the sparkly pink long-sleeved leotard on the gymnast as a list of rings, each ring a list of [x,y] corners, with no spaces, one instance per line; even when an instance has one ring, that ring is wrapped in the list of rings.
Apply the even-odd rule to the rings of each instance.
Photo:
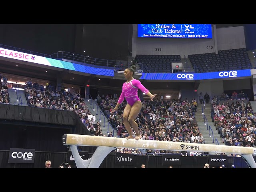
[[[149,92],[149,90],[147,90],[139,80],[132,79],[129,82],[125,82],[123,84],[122,93],[118,99],[118,103],[121,104],[125,97],[127,103],[130,106],[133,106],[137,100],[140,100],[138,97],[138,89],[140,89],[145,94]]]

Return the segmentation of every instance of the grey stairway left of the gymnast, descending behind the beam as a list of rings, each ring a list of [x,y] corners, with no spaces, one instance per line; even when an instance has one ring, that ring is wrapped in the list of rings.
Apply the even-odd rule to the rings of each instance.
[[[91,112],[92,115],[96,118],[96,123],[100,122],[100,128],[102,129],[103,135],[108,136],[108,132],[112,131],[114,136],[116,136],[116,132],[113,132],[113,128],[110,124],[108,124],[108,119],[104,115],[104,113],[100,110],[100,107],[98,106],[98,113],[97,113],[97,102],[93,99],[84,99],[84,102],[88,106],[88,110]],[[104,127],[104,120],[105,120],[105,127]]]

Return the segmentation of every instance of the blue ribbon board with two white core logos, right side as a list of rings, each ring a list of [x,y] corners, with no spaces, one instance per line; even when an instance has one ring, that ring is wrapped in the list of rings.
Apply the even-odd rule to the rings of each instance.
[[[142,73],[144,80],[205,80],[251,76],[250,69],[208,73]]]

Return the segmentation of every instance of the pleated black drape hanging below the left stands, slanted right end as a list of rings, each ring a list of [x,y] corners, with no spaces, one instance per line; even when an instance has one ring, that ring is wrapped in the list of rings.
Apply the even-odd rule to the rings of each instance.
[[[15,124],[37,124],[42,127],[69,126],[73,134],[91,135],[74,111],[0,104],[0,120]]]

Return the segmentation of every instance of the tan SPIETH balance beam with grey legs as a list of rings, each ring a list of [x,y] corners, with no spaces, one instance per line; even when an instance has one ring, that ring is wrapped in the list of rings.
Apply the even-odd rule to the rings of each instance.
[[[250,164],[252,164],[253,162],[255,164],[254,160],[253,162],[251,161],[253,159],[252,155],[256,154],[256,148],[252,148],[252,147],[197,144],[197,143],[184,143],[184,142],[168,142],[168,141],[141,140],[141,139],[135,140],[135,139],[126,139],[126,138],[100,137],[100,136],[89,136],[89,135],[78,135],[78,134],[64,134],[62,137],[62,144],[70,145],[75,162],[76,162],[76,157],[75,157],[75,154],[73,153],[73,150],[77,151],[76,146],[98,146],[98,148],[96,149],[97,152],[95,151],[94,154],[97,156],[97,158],[99,158],[99,156],[102,155],[101,162],[104,160],[104,158],[108,155],[109,152],[111,152],[117,147],[153,149],[153,150],[158,149],[158,150],[174,150],[174,151],[243,154],[244,158],[247,157],[246,158],[247,162],[250,161]],[[101,154],[99,155],[98,153],[99,154],[101,153]],[[250,155],[250,158],[249,156],[246,156],[246,155]],[[79,160],[82,160],[79,154],[77,158]],[[83,161],[86,161],[86,160],[83,160]],[[81,164],[81,162],[78,164]],[[81,165],[77,165],[77,166],[81,166]],[[84,167],[84,164],[81,167]],[[256,167],[256,164],[255,164],[255,167]],[[88,165],[88,168],[89,168],[89,165]]]

